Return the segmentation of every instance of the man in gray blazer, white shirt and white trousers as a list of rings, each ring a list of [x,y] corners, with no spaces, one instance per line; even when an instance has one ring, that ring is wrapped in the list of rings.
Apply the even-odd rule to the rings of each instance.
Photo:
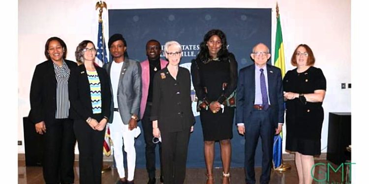
[[[112,35],[109,38],[108,47],[114,61],[104,65],[104,68],[111,81],[113,113],[109,126],[114,145],[114,159],[120,177],[117,184],[133,184],[136,166],[134,139],[141,132],[137,127],[142,96],[141,66],[139,62],[128,59],[127,44],[122,34]],[[127,179],[123,165],[123,144],[124,151],[127,153]]]

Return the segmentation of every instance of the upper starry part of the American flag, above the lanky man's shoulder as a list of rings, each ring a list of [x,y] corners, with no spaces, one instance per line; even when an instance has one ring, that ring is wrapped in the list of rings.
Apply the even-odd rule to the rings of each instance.
[[[97,53],[95,63],[102,67],[103,64],[108,63],[108,57],[106,54],[106,44],[104,38],[104,29],[102,27],[102,21],[99,21],[99,29],[97,33]]]

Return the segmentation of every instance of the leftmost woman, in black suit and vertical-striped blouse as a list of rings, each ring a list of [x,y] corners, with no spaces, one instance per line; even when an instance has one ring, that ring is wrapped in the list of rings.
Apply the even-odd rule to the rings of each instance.
[[[42,171],[46,184],[74,183],[76,138],[68,113],[68,78],[77,64],[65,59],[66,52],[62,39],[49,38],[45,44],[48,60],[36,66],[31,82],[29,119],[43,137]]]

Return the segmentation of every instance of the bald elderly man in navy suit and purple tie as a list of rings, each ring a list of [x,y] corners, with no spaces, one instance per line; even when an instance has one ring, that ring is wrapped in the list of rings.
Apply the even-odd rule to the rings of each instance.
[[[269,183],[273,136],[282,130],[284,122],[281,72],[267,64],[270,57],[265,44],[256,44],[251,53],[255,64],[239,73],[236,123],[238,132],[245,135],[246,184],[255,184],[254,157],[259,136],[263,151],[260,184]]]

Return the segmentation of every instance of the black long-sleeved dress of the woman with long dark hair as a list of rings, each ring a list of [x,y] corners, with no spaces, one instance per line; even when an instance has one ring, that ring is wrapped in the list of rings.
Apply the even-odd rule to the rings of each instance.
[[[191,75],[199,100],[209,104],[213,101],[223,104],[237,86],[237,61],[232,53],[229,53],[228,58],[220,60],[192,60]],[[227,83],[225,87],[223,83]],[[204,140],[215,141],[233,137],[234,108],[225,105],[224,111],[220,109],[217,113],[213,113],[210,108],[200,108]]]

